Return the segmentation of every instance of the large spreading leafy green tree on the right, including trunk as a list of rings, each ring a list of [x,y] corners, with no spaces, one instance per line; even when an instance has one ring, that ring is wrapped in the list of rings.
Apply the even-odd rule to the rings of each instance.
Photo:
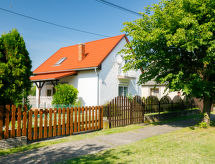
[[[215,100],[215,1],[163,0],[124,23],[132,38],[121,52],[124,70],[140,69],[139,83],[155,80],[203,100],[209,123]]]

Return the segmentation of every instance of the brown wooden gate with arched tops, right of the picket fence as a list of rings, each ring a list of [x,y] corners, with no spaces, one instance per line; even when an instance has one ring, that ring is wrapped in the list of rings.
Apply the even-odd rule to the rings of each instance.
[[[125,96],[115,97],[108,104],[107,118],[111,128],[144,122],[141,97],[135,96],[132,100]]]

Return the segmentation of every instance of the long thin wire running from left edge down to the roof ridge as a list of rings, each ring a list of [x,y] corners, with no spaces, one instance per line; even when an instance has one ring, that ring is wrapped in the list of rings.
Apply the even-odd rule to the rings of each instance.
[[[97,36],[102,36],[102,37],[110,37],[110,36],[103,35],[103,34],[98,34],[98,33],[93,33],[93,32],[89,32],[89,31],[79,30],[79,29],[73,28],[73,27],[63,26],[63,25],[56,24],[56,23],[53,23],[53,22],[49,22],[49,21],[45,21],[45,20],[42,20],[42,19],[34,18],[34,17],[28,16],[28,15],[20,14],[20,13],[17,13],[17,12],[8,10],[8,9],[4,9],[4,8],[1,8],[1,7],[0,7],[0,10],[8,12],[8,13],[11,13],[11,14],[19,15],[19,16],[22,16],[22,17],[25,17],[25,18],[28,18],[28,19],[32,19],[32,20],[35,20],[35,21],[38,21],[38,22],[42,22],[42,23],[46,23],[46,24],[49,24],[49,25],[61,27],[61,28],[64,28],[64,29],[68,29],[68,30],[73,30],[73,31],[77,31],[77,32],[82,32],[82,33],[91,34],[91,35],[97,35]]]

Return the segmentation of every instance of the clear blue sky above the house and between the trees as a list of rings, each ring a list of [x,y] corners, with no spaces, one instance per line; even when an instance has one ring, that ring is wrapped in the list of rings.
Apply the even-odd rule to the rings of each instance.
[[[56,24],[107,36],[122,34],[123,22],[138,19],[137,15],[104,5],[96,0],[0,0],[0,7]],[[159,0],[107,0],[140,12]],[[0,34],[16,28],[24,37],[33,68],[58,49],[77,43],[102,39],[26,19],[0,10]]]

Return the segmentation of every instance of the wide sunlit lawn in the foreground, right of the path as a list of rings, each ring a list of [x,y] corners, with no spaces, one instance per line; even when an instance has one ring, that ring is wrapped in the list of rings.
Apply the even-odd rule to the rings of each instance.
[[[215,127],[180,129],[62,163],[215,163]]]

